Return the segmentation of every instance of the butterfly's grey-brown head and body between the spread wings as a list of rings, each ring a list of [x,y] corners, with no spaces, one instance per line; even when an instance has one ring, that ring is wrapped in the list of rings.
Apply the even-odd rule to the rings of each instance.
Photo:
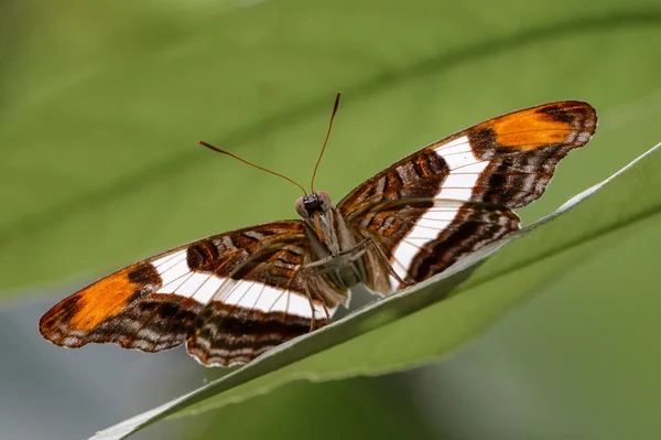
[[[339,288],[350,288],[366,279],[362,256],[365,240],[348,225],[330,196],[318,191],[300,197],[296,211],[303,219],[311,243],[311,261],[306,270],[324,276]]]

